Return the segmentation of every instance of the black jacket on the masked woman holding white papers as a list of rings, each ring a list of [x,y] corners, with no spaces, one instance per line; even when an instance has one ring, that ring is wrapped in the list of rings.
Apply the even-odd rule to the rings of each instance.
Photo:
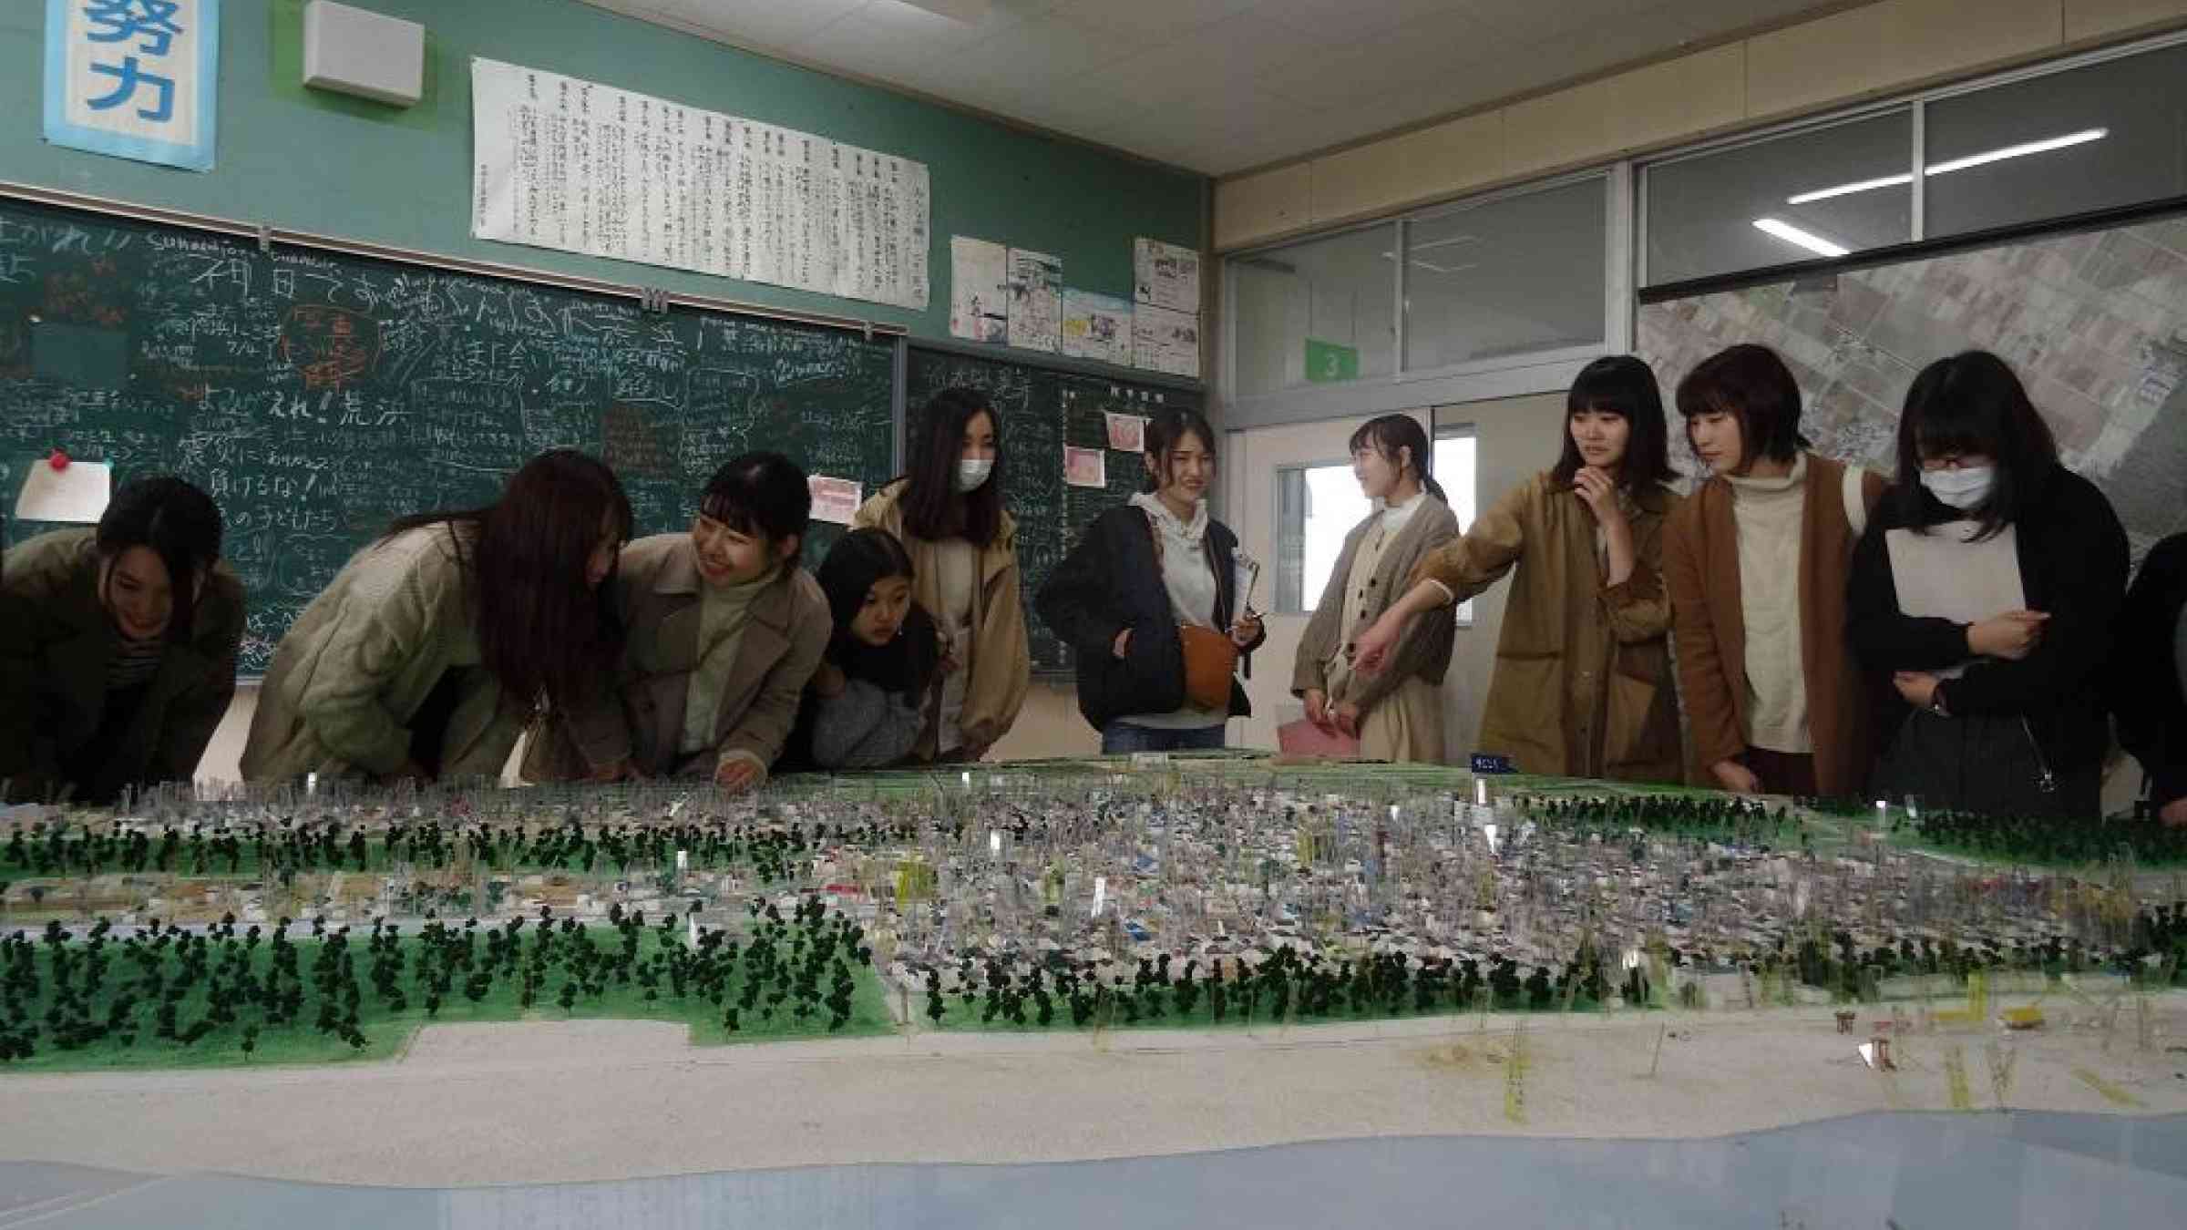
[[[1953,517],[1957,512],[1922,495],[1922,523]],[[1966,624],[1898,613],[1885,534],[1905,525],[1898,501],[1885,497],[1852,552],[1846,587],[1846,637],[1861,668],[1883,676],[1968,659]],[[2014,527],[2027,608],[2049,615],[2043,639],[2021,661],[1970,665],[1964,676],[1944,683],[1944,705],[1955,718],[2027,718],[2051,768],[2089,768],[2104,759],[2110,744],[2102,674],[2126,597],[2126,530],[2104,492],[2065,466],[2054,466],[2034,484]],[[1896,716],[1905,716],[1903,705]]]

